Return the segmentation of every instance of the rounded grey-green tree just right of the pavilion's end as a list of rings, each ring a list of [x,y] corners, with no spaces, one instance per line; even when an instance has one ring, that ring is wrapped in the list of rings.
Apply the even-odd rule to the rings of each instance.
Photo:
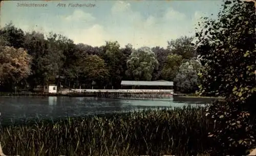
[[[198,71],[201,68],[197,60],[189,60],[179,67],[174,82],[182,92],[194,92],[198,85]]]

